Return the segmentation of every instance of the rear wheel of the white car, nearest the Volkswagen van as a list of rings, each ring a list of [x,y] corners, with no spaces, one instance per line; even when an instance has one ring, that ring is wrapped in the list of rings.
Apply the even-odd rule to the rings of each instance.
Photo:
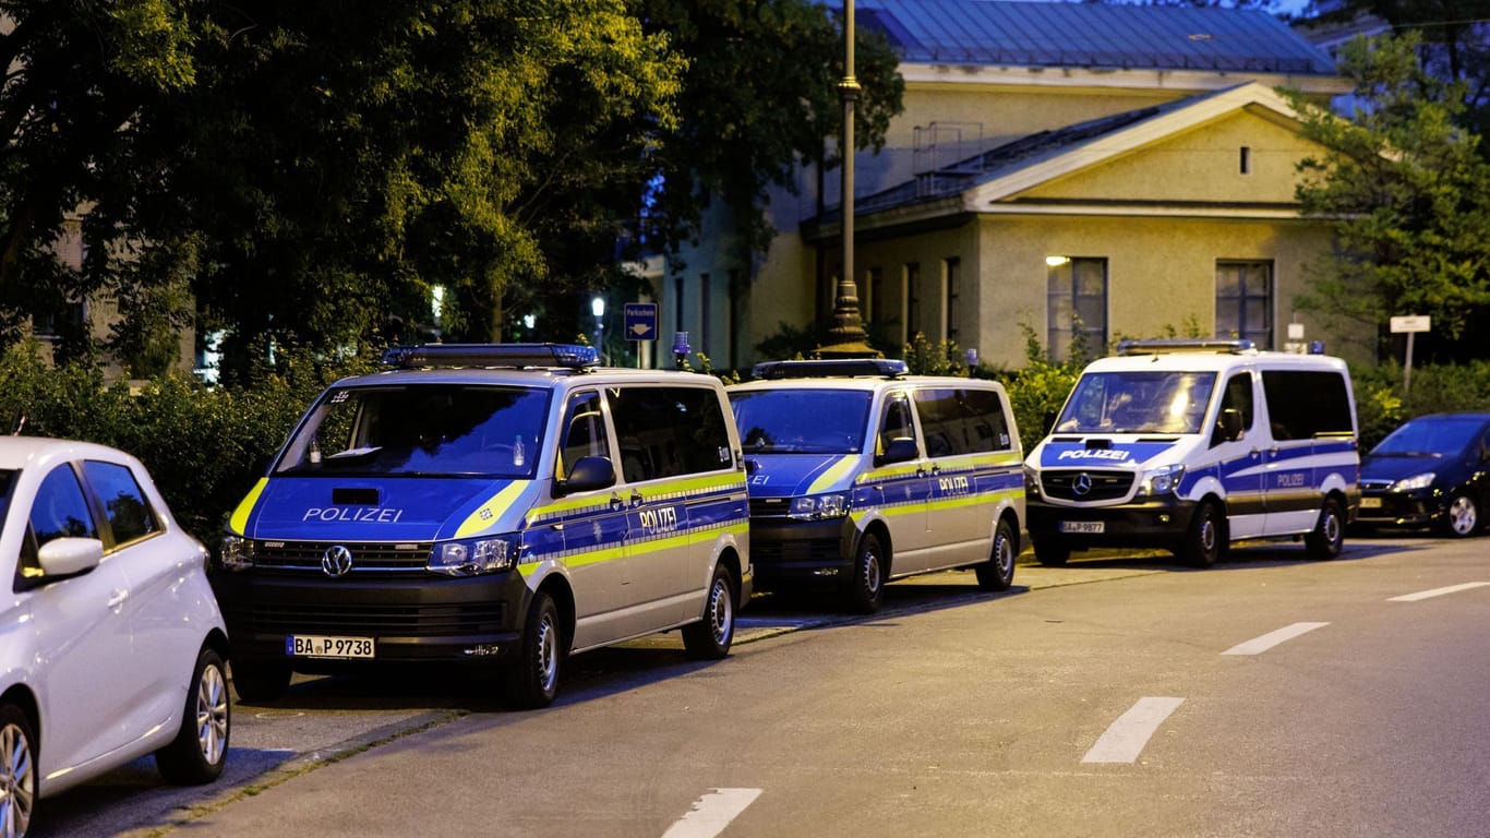
[[[228,699],[228,668],[222,655],[204,647],[197,655],[182,729],[171,744],[155,752],[155,766],[167,783],[201,786],[222,774],[228,759],[232,702]]]

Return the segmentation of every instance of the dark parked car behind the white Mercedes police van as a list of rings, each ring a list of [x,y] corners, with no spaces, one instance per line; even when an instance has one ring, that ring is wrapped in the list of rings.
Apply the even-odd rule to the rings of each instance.
[[[1490,413],[1410,419],[1360,461],[1365,526],[1436,526],[1474,535],[1490,498]]]

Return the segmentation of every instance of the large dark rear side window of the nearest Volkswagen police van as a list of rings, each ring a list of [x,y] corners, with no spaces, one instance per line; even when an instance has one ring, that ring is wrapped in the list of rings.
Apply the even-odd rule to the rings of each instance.
[[[706,388],[605,391],[627,483],[735,465],[720,398]]]

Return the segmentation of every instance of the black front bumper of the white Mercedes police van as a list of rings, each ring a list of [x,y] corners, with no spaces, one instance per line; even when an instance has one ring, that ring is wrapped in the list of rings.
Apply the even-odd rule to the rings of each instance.
[[[1036,541],[1058,543],[1073,550],[1168,549],[1189,532],[1196,505],[1173,495],[1106,507],[1065,507],[1030,498],[1025,501],[1025,528]]]

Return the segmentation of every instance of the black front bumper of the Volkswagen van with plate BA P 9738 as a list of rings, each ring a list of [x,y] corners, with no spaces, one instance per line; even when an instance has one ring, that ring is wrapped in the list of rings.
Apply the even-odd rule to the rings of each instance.
[[[215,570],[232,656],[302,672],[377,662],[493,662],[520,637],[532,592],[516,571],[447,579],[314,579]],[[372,638],[372,659],[291,655],[292,635]]]

